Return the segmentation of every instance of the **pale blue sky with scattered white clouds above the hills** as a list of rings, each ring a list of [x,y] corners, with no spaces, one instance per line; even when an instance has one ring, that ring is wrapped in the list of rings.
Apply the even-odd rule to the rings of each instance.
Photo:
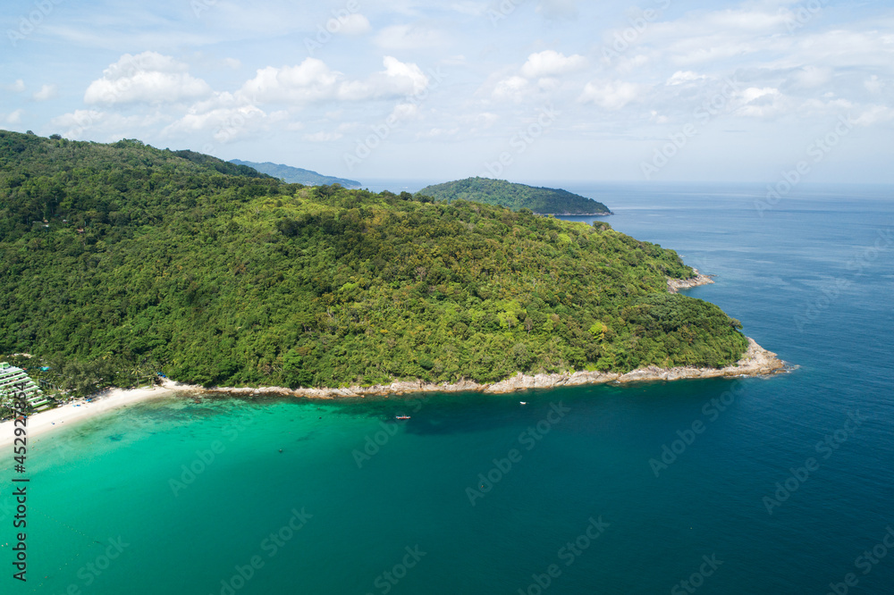
[[[894,183],[894,4],[6,0],[0,128],[353,180]]]

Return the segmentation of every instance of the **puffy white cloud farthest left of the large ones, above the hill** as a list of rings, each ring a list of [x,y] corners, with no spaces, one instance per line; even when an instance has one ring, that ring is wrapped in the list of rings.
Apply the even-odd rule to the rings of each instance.
[[[156,52],[124,54],[84,93],[87,104],[164,103],[207,96],[207,82],[190,76],[187,65]]]

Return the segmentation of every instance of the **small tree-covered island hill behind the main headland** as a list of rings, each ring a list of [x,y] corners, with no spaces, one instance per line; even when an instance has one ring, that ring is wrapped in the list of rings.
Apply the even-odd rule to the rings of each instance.
[[[568,190],[537,188],[490,178],[444,182],[426,186],[416,194],[447,202],[462,198],[486,205],[502,205],[513,211],[527,208],[539,214],[611,214],[602,203]]]

